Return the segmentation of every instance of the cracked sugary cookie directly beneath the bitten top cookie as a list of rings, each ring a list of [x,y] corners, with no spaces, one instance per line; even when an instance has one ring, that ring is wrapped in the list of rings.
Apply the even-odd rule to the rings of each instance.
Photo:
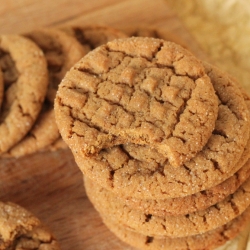
[[[241,167],[237,162],[249,139],[248,108],[240,89],[226,74],[208,64],[206,70],[219,99],[215,129],[202,151],[178,171],[149,147],[122,144],[102,150],[95,157],[84,157],[80,151],[74,151],[72,144],[71,149],[81,171],[120,196],[139,199],[167,199],[194,194],[218,185],[237,172]],[[61,108],[61,119],[68,119],[72,115],[71,108]],[[73,122],[72,118],[67,126],[63,126],[64,132],[71,130],[66,128]],[[76,146],[82,141],[79,138],[74,142]]]

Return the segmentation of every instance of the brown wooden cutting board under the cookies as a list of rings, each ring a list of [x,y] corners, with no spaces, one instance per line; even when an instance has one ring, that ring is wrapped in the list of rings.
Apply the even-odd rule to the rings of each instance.
[[[207,58],[163,0],[23,0],[0,6],[0,34],[66,23],[152,26],[174,33],[198,57]],[[63,250],[134,249],[103,225],[69,150],[0,159],[0,200],[16,202],[37,215]]]

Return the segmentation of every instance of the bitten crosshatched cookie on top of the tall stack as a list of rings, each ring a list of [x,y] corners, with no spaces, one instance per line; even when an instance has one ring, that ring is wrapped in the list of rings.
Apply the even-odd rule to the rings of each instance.
[[[62,81],[55,108],[73,151],[91,156],[135,143],[156,149],[176,167],[207,143],[218,101],[192,54],[171,42],[133,37],[80,60]]]

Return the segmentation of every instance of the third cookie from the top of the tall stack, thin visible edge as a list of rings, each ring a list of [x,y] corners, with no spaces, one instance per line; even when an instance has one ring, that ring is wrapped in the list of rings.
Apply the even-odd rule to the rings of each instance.
[[[247,145],[250,148],[250,141]],[[247,159],[249,150],[247,150]],[[239,164],[239,163],[238,163]],[[239,186],[250,176],[250,161],[236,172],[233,176],[207,190],[193,195],[173,199],[135,199],[133,197],[119,197],[128,207],[144,211],[146,214],[156,216],[170,216],[193,213],[197,210],[204,210],[222,201],[228,195],[233,194]]]

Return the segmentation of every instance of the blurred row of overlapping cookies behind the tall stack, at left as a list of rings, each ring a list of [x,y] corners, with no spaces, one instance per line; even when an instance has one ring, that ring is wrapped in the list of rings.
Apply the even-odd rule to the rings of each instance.
[[[106,26],[0,36],[1,157],[66,147],[54,118],[58,84],[91,49],[121,37],[126,35]]]

